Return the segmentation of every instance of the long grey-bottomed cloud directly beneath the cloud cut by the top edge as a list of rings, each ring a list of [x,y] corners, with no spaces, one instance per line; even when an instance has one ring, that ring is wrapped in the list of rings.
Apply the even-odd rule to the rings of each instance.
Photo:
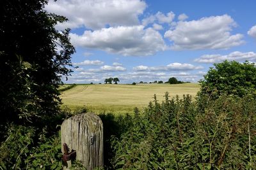
[[[161,34],[143,25],[109,27],[84,31],[82,36],[70,34],[71,43],[84,48],[95,48],[124,56],[153,55],[166,49]]]

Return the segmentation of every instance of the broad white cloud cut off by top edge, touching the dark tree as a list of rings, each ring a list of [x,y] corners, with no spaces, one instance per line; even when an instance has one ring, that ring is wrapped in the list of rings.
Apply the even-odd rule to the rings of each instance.
[[[61,0],[49,1],[45,9],[68,18],[68,22],[58,25],[60,29],[100,29],[106,25],[136,25],[146,7],[141,0]]]

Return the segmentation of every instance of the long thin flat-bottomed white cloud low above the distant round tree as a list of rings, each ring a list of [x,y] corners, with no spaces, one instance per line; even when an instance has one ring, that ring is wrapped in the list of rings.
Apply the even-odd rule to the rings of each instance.
[[[168,64],[167,66],[156,66],[156,67],[148,67],[148,66],[136,66],[133,67],[134,71],[189,71],[195,69],[203,69],[202,66],[194,66],[193,64],[187,63],[179,63],[174,62]]]

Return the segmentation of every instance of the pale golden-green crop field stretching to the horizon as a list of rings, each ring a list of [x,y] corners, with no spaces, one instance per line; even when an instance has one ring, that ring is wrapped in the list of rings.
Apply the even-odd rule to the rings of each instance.
[[[171,97],[183,94],[196,95],[200,89],[197,83],[170,84],[138,84],[138,85],[77,85],[61,93],[63,107],[71,110],[85,106],[95,113],[132,113],[135,107],[142,109],[153,100],[163,101],[165,92]]]

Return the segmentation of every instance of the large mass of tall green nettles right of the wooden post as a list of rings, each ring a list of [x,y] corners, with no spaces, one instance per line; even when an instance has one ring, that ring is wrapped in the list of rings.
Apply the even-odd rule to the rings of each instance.
[[[221,96],[204,110],[191,96],[156,96],[129,129],[111,138],[114,169],[256,167],[255,99]]]

